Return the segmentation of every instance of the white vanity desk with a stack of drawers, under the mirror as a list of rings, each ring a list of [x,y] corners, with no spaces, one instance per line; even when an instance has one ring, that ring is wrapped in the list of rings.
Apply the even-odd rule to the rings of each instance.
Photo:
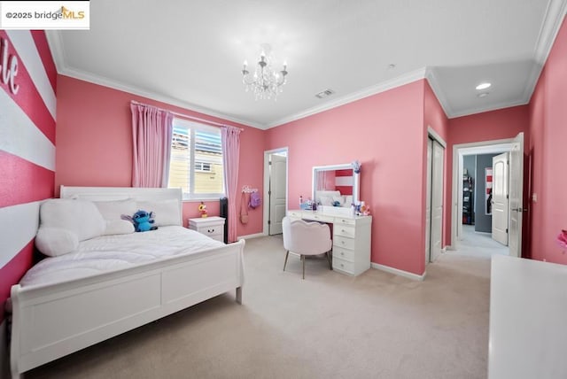
[[[360,275],[370,268],[371,216],[345,216],[312,211],[288,211],[291,219],[316,220],[332,225],[333,270]]]

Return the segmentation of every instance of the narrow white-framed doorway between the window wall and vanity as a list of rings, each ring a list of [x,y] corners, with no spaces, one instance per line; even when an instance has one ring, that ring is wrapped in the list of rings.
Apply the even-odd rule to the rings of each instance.
[[[288,148],[264,151],[263,235],[282,233],[287,210]]]

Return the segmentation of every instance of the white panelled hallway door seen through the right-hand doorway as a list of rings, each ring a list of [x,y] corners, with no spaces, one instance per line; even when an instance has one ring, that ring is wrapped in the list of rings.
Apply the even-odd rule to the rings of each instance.
[[[493,240],[508,245],[508,152],[493,157]]]

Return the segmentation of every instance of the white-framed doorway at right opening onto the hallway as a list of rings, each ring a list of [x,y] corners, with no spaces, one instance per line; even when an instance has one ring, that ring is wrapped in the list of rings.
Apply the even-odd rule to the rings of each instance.
[[[513,157],[518,150],[522,151],[520,155],[523,156],[523,137],[520,134],[506,140],[454,145],[453,250],[461,250],[462,244],[465,247],[478,244],[475,234],[477,237],[484,234],[484,237],[495,240],[496,244],[488,243],[495,249],[505,249],[510,255],[519,254],[517,241],[521,241],[522,230],[515,227],[518,214],[512,212],[516,209],[512,203],[517,197],[515,183],[523,182],[523,167],[518,167]],[[474,168],[470,166],[470,157],[474,157]],[[473,240],[475,242],[471,242]],[[513,251],[509,249],[509,244],[514,248]]]

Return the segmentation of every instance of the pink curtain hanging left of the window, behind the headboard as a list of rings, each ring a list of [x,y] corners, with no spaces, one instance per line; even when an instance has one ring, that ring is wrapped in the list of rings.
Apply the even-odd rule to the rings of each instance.
[[[167,187],[173,113],[135,102],[130,110],[134,140],[132,187]]]

